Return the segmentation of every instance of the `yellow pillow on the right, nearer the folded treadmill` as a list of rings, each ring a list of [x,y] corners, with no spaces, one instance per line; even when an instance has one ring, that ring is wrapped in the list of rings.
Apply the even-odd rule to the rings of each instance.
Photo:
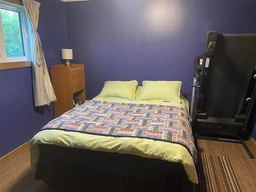
[[[138,100],[181,100],[181,84],[181,81],[143,81]]]

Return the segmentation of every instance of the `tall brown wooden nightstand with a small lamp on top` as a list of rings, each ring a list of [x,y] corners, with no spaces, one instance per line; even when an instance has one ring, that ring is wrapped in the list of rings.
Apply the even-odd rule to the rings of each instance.
[[[83,102],[86,101],[84,65],[72,64],[71,67],[67,67],[61,64],[50,66],[50,70],[52,86],[57,97],[53,102],[56,118],[74,108],[75,96],[81,95]]]

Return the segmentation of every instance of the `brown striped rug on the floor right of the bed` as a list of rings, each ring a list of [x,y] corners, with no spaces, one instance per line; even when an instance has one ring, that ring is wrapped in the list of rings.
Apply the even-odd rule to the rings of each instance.
[[[241,192],[241,186],[228,157],[199,154],[199,184],[194,192]]]

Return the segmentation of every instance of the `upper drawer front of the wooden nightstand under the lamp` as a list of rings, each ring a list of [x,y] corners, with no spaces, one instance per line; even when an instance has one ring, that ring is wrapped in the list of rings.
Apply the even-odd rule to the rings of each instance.
[[[71,72],[71,80],[72,80],[72,92],[78,92],[84,89],[84,71],[74,71]]]

